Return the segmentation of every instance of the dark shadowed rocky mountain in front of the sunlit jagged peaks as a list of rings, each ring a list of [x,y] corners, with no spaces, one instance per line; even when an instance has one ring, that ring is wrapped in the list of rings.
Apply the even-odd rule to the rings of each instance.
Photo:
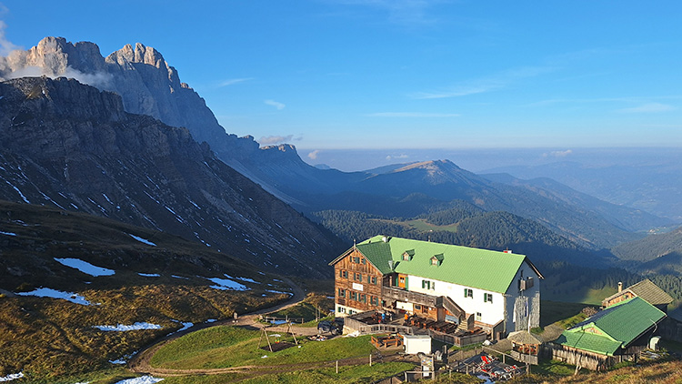
[[[0,83],[0,163],[0,198],[160,229],[262,268],[321,276],[338,251],[186,128],[73,79]]]

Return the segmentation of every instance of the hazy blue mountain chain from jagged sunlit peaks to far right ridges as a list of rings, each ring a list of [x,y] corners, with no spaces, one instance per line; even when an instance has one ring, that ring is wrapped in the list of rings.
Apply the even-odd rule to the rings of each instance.
[[[477,176],[450,161],[429,161],[341,172],[306,164],[291,145],[259,147],[253,137],[228,135],[204,100],[181,83],[154,48],[136,44],[103,57],[92,43],[46,37],[27,51],[0,58],[0,76],[29,72],[75,76],[123,96],[126,112],[185,126],[228,166],[311,215],[325,209],[415,217],[464,200],[486,211],[508,211],[537,222],[587,248],[610,248],[641,237],[633,231],[668,226],[669,219],[617,207],[549,180],[522,182]]]

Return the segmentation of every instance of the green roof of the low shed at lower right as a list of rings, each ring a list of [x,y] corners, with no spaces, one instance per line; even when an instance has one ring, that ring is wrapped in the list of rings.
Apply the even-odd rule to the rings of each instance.
[[[575,327],[567,329],[556,342],[568,347],[613,354],[615,349],[612,348],[612,343],[616,342],[619,347],[626,349],[630,343],[665,317],[665,313],[646,300],[630,298],[601,310]],[[586,332],[587,328],[597,328],[604,335]]]

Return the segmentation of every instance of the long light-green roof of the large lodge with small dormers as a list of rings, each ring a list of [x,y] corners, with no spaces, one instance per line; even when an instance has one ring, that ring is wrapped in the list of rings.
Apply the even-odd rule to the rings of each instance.
[[[384,242],[382,236],[376,236],[356,248],[384,274],[403,273],[491,292],[505,293],[524,261],[535,270],[524,255],[401,237],[387,237]],[[414,255],[403,260],[408,250],[414,250]],[[431,265],[431,258],[436,255],[442,255],[439,266]],[[393,269],[389,260],[393,260]]]

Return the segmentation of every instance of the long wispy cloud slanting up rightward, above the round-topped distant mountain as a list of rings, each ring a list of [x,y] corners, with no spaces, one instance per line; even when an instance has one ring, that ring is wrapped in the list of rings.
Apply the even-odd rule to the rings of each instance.
[[[454,86],[448,86],[433,91],[416,92],[410,96],[416,99],[429,99],[482,94],[505,88],[521,79],[539,76],[554,71],[555,69],[556,68],[552,66],[520,66],[508,69],[493,76],[468,80]]]

